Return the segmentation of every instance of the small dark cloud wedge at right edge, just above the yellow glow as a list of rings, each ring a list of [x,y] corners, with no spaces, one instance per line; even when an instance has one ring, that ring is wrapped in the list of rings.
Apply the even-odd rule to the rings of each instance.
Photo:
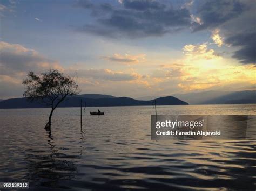
[[[232,46],[239,46],[241,49],[234,52],[233,57],[241,63],[254,63],[256,56],[256,32],[236,34],[228,37],[225,42]]]

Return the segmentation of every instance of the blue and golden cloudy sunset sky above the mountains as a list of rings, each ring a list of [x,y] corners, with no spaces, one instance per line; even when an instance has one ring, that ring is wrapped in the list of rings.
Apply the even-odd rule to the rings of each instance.
[[[0,98],[29,71],[77,76],[81,94],[254,90],[256,2],[0,0]]]

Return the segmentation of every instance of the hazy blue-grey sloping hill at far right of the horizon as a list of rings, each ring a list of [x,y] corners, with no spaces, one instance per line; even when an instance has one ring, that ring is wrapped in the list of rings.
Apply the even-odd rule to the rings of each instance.
[[[256,90],[236,91],[203,102],[203,104],[256,103]]]

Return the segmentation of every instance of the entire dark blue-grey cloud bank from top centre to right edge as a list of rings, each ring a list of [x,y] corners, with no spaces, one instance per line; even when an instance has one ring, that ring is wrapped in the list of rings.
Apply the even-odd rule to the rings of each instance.
[[[93,24],[78,27],[82,32],[111,38],[141,38],[162,36],[190,27],[193,32],[218,28],[225,33],[225,42],[238,48],[233,52],[233,58],[244,64],[255,63],[253,1],[195,0],[193,9],[186,6],[174,9],[170,3],[150,0],[123,0],[121,4],[81,0],[76,6],[89,11],[94,19]],[[199,18],[200,22],[193,17]]]

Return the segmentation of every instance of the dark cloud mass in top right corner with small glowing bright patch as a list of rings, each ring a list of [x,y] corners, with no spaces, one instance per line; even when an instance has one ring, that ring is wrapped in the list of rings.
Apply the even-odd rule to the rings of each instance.
[[[213,41],[221,47],[224,44],[238,49],[233,58],[243,64],[255,65],[255,9],[254,1],[201,1],[197,16],[203,24],[193,24],[193,31],[211,30]],[[219,31],[225,39],[219,35]]]

